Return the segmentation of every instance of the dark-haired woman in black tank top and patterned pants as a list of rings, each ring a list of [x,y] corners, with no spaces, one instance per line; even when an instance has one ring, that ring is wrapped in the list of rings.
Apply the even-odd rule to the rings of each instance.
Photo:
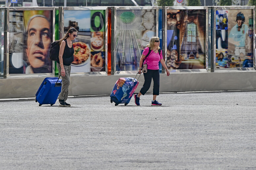
[[[57,100],[60,106],[71,106],[66,103],[66,100],[68,97],[68,86],[70,84],[71,63],[74,61],[72,40],[75,40],[76,37],[77,30],[74,27],[70,27],[65,37],[60,40],[59,59],[57,60],[59,74],[61,74],[62,77],[61,93]]]

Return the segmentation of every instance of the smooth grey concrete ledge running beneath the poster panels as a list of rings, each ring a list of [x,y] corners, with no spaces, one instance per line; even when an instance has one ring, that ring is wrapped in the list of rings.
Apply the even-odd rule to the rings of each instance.
[[[134,76],[135,74],[72,76],[69,95],[110,94],[118,78]],[[0,79],[0,98],[35,97],[44,78]],[[140,91],[143,83],[144,77],[141,75],[135,93]],[[152,84],[153,82],[148,92],[152,92]],[[170,76],[160,74],[160,92],[255,89],[255,71],[171,73]]]

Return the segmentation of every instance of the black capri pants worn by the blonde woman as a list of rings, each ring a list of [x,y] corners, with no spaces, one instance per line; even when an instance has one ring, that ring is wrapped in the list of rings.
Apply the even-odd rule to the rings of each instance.
[[[159,95],[159,69],[158,70],[149,70],[147,73],[143,73],[145,82],[141,88],[141,94],[145,95],[147,91],[149,90],[149,87],[151,85],[151,80],[153,78],[153,95]]]

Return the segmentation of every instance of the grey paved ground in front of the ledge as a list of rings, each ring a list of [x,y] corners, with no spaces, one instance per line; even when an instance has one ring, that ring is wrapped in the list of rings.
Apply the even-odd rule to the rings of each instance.
[[[0,169],[256,169],[255,91],[0,101]]]

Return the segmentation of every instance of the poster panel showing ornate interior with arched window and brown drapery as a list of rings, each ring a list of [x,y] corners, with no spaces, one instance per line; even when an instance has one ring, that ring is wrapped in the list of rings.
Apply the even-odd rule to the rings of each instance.
[[[166,13],[167,68],[206,69],[206,10],[167,9]]]

